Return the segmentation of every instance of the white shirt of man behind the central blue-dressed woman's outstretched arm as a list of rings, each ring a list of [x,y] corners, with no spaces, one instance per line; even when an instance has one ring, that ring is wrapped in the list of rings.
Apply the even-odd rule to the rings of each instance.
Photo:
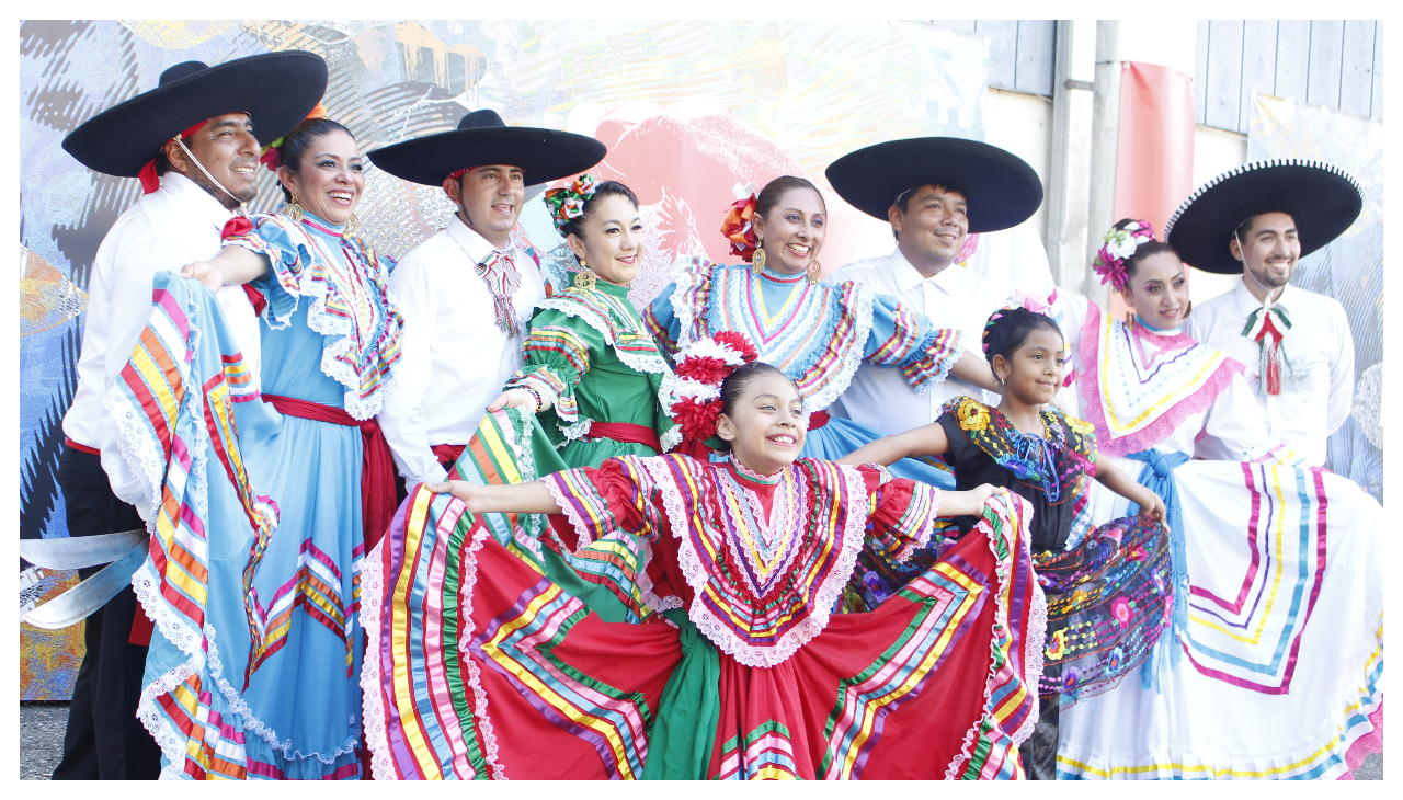
[[[984,354],[984,323],[1007,299],[984,278],[957,264],[925,278],[899,248],[891,255],[849,264],[835,272],[832,281],[864,284],[901,300],[906,309],[930,317],[936,327],[964,331],[964,348],[979,355]],[[899,434],[933,422],[946,400],[957,394],[988,400],[984,390],[954,378],[932,385],[925,394],[916,394],[899,369],[863,362],[853,375],[852,385],[833,401],[829,411],[882,434]]]

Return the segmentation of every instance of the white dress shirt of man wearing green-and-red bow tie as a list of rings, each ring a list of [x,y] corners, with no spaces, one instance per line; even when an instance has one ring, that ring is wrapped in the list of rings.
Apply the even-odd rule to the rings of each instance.
[[[1296,376],[1292,380],[1284,371],[1281,394],[1258,390],[1260,348],[1242,331],[1261,303],[1246,284],[1239,282],[1232,292],[1195,306],[1186,331],[1247,368],[1243,378],[1256,394],[1273,441],[1296,451],[1308,466],[1323,466],[1326,442],[1350,417],[1354,404],[1350,321],[1337,300],[1296,286],[1282,289],[1275,305],[1291,319],[1281,351],[1291,359]]]

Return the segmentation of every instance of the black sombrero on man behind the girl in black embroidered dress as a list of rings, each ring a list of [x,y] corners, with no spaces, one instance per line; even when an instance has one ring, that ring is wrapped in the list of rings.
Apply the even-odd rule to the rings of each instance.
[[[882,142],[843,156],[825,174],[839,196],[884,222],[897,195],[925,185],[965,196],[969,233],[1013,227],[1042,205],[1042,181],[1027,161],[971,139]]]

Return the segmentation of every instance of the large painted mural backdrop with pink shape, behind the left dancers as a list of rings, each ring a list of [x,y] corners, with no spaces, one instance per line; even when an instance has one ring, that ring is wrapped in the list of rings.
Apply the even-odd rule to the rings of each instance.
[[[59,143],[98,111],[154,87],[170,66],[283,49],[327,59],[324,105],[365,149],[452,129],[477,108],[509,125],[603,140],[609,156],[592,171],[637,192],[651,241],[637,303],[668,282],[678,257],[725,260],[725,208],[780,174],[808,177],[825,192],[828,269],[890,253],[885,223],[838,199],[824,168],[885,139],[982,140],[989,73],[982,38],[916,22],[21,22],[21,536],[69,533],[55,477],[84,289],[102,236],[140,192],[136,180],[79,166]],[[398,257],[446,223],[441,189],[375,168],[366,178],[359,216],[383,253]],[[260,181],[253,209],[271,211],[272,177]],[[546,267],[563,267],[543,204],[526,204],[516,236]],[[73,575],[27,580],[21,604],[63,591]],[[22,626],[21,699],[67,698],[80,655],[81,627]]]

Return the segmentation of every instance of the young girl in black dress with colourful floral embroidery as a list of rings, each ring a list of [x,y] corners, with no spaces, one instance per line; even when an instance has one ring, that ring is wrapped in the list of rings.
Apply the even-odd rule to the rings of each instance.
[[[1051,780],[1059,706],[1113,688],[1145,660],[1167,622],[1164,504],[1097,459],[1089,424],[1048,407],[1062,386],[1066,361],[1062,331],[1051,319],[1024,307],[995,312],[985,326],[984,349],[1003,386],[998,408],[954,397],[930,425],[878,439],[840,463],[941,455],[955,472],[957,487],[989,483],[1028,500],[1034,568],[1048,592],[1048,627],[1038,684],[1041,719],[1023,755],[1030,778]],[[1089,477],[1138,504],[1141,519],[1117,519],[1082,538],[1090,518]],[[974,521],[955,522],[967,532]],[[1079,542],[1070,540],[1073,533]],[[1065,549],[1069,543],[1070,550]],[[899,585],[899,573],[880,560],[863,560],[860,571],[854,588],[866,604]]]

